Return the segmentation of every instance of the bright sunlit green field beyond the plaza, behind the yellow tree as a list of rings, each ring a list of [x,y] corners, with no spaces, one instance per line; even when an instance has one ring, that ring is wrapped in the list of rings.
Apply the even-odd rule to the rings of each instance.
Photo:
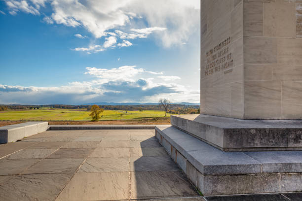
[[[0,120],[8,121],[89,121],[91,120],[90,111],[83,109],[27,109],[27,110],[7,110],[0,112]],[[124,119],[143,119],[153,117],[163,117],[164,111],[115,111],[104,110],[101,114],[102,120],[124,120]],[[170,116],[170,114],[167,114]]]

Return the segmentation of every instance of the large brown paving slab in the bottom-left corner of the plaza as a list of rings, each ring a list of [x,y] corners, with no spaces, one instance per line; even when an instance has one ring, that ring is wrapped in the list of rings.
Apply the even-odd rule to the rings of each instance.
[[[1,201],[54,201],[73,174],[28,174],[0,184]]]

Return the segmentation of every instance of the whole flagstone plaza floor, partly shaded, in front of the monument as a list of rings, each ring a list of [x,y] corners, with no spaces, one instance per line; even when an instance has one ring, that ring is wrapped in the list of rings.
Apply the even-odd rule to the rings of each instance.
[[[290,194],[293,201],[300,194]],[[288,198],[290,197],[288,196]],[[246,201],[288,201],[258,195]],[[233,201],[199,195],[154,130],[46,131],[0,145],[1,201]]]

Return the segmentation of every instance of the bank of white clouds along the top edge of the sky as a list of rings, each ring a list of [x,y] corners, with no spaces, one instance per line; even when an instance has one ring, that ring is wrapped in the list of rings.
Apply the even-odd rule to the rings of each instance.
[[[108,34],[146,38],[154,32],[163,46],[170,47],[187,42],[200,26],[200,0],[5,0],[12,15],[18,11],[38,15],[46,1],[54,22],[82,26],[96,38]]]

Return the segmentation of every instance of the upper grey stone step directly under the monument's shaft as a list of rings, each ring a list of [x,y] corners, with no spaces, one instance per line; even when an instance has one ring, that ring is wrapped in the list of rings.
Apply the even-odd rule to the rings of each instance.
[[[172,115],[171,124],[224,151],[302,150],[302,121]]]

